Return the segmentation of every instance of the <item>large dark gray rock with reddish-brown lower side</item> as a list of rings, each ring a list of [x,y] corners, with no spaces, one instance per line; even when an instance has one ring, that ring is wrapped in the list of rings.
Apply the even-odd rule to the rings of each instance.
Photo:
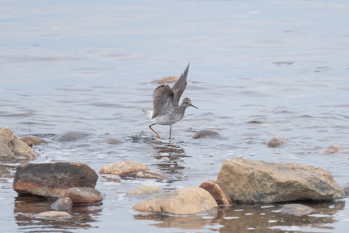
[[[97,178],[96,172],[86,164],[28,164],[17,167],[13,189],[21,194],[56,199],[64,197],[68,188],[94,188]]]

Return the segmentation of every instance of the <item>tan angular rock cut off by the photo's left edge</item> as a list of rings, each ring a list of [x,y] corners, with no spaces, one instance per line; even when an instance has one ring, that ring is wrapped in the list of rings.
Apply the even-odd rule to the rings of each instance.
[[[0,157],[15,159],[18,157],[35,158],[36,153],[24,142],[19,140],[11,129],[0,128]]]

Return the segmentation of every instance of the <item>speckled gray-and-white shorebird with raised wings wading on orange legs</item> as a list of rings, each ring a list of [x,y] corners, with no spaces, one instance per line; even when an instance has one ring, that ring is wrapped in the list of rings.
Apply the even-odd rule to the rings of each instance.
[[[185,109],[192,105],[189,98],[184,98],[181,105],[179,105],[179,99],[182,95],[185,87],[187,86],[189,64],[180,76],[179,80],[173,85],[172,88],[169,85],[158,86],[153,92],[153,106],[154,112],[141,108],[142,112],[152,121],[154,124],[149,125],[149,128],[160,138],[151,126],[153,125],[169,125],[170,126],[170,138],[172,125],[181,119],[183,119]],[[197,108],[197,107],[195,107]],[[198,108],[199,109],[199,108]]]

